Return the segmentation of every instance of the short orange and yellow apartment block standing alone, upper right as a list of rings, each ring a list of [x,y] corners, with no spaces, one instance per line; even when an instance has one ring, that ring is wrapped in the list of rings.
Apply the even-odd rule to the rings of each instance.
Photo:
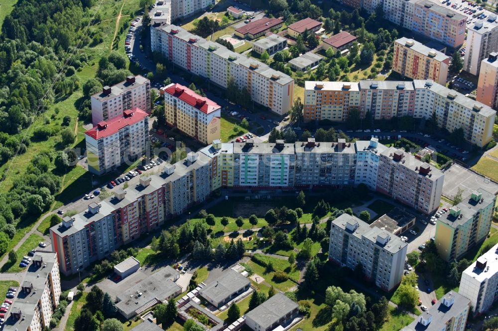
[[[413,80],[446,84],[450,57],[406,37],[394,41],[392,70]]]

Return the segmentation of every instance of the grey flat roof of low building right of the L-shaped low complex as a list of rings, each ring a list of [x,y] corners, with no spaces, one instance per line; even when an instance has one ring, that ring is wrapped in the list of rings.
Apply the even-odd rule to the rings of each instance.
[[[227,269],[220,277],[202,288],[200,295],[221,302],[249,284],[249,279],[233,269]]]

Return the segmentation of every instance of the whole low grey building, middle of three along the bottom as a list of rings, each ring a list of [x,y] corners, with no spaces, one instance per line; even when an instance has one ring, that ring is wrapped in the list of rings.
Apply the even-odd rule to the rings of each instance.
[[[199,290],[199,295],[215,307],[220,307],[249,290],[250,281],[237,271],[228,269],[204,288]]]

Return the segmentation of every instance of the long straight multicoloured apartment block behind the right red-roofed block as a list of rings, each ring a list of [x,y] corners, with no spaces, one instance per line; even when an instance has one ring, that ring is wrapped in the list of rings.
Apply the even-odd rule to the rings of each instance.
[[[151,27],[151,49],[175,65],[223,88],[235,81],[252,100],[283,115],[292,106],[294,80],[267,65],[207,41],[176,25]]]

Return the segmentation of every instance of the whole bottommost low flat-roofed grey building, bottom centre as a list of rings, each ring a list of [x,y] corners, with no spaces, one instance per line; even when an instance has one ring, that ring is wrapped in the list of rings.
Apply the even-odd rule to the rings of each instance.
[[[277,293],[246,314],[246,325],[254,331],[284,330],[298,315],[299,306],[283,293]]]

